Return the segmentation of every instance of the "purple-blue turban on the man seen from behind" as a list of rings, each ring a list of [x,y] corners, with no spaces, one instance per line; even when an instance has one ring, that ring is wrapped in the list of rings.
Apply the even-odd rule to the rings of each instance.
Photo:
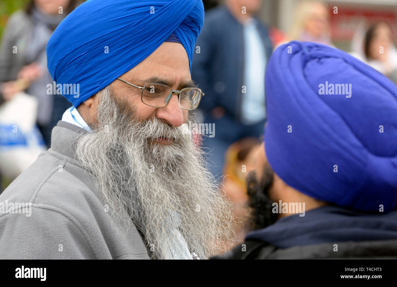
[[[265,82],[266,156],[285,183],[350,209],[396,206],[395,84],[343,51],[310,42],[276,49]]]

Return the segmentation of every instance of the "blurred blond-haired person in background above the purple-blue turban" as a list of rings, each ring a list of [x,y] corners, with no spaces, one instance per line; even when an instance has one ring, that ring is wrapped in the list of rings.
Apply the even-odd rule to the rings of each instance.
[[[301,1],[293,16],[287,41],[298,40],[333,46],[330,35],[330,16],[326,4],[320,1]]]

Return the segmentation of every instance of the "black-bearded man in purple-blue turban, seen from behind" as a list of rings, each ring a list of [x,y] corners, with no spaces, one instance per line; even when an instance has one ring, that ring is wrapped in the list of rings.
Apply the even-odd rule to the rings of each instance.
[[[351,55],[290,42],[266,70],[245,250],[225,258],[397,258],[397,87]]]

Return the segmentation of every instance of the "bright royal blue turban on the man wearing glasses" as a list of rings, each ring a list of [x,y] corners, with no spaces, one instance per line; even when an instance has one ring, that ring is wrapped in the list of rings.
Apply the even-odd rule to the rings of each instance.
[[[88,0],[48,40],[48,70],[57,85],[79,84],[79,97],[64,94],[78,106],[143,61],[172,33],[170,42],[180,41],[191,65],[203,21],[201,0]]]

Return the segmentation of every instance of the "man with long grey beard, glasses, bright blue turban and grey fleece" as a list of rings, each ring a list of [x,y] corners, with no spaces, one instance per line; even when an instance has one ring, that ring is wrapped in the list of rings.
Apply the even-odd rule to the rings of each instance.
[[[189,130],[201,0],[88,0],[47,44],[48,94],[73,106],[0,195],[0,258],[204,259],[230,203]],[[189,122],[189,127],[188,123]]]

